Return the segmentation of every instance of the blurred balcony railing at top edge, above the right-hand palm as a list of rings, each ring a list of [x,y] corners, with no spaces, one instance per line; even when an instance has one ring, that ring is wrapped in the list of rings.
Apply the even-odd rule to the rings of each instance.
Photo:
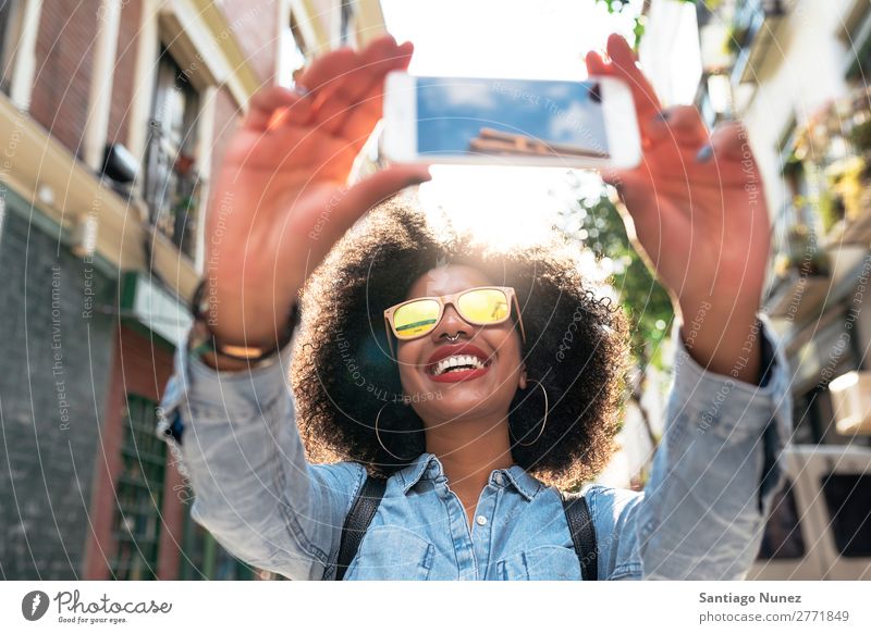
[[[737,49],[733,84],[756,80],[773,29],[785,14],[784,0],[739,0],[732,27],[732,46]]]

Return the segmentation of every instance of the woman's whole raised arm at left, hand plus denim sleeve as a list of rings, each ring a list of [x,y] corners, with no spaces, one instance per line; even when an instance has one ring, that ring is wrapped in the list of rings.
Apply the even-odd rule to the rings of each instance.
[[[394,165],[347,185],[380,116],[384,76],[410,54],[410,43],[392,37],[340,49],[303,73],[305,89],[272,87],[252,99],[207,215],[203,321],[219,349],[274,348],[305,277],[335,240],[384,198],[429,178],[425,166]],[[306,463],[289,356],[253,368],[180,349],[161,432],[174,435],[194,519],[231,552],[292,579],[329,577],[365,470]]]

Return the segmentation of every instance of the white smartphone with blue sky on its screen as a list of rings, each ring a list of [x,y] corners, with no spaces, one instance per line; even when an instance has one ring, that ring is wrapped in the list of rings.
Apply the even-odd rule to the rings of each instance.
[[[629,87],[388,74],[382,150],[403,163],[629,169],[641,160]]]

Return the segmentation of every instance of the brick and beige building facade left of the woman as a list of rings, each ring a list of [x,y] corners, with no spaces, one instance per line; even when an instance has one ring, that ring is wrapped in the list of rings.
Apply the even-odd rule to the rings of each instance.
[[[0,564],[252,579],[155,435],[213,165],[259,88],[383,32],[377,2],[0,3]]]

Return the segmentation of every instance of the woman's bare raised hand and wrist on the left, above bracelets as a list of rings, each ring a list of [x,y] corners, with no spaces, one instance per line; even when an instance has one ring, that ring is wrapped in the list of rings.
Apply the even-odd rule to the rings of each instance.
[[[271,346],[306,276],[380,201],[429,179],[392,165],[348,187],[354,159],[381,116],[384,76],[410,42],[385,36],[339,49],[299,77],[307,95],[258,92],[226,146],[206,222],[209,323],[225,344]]]

